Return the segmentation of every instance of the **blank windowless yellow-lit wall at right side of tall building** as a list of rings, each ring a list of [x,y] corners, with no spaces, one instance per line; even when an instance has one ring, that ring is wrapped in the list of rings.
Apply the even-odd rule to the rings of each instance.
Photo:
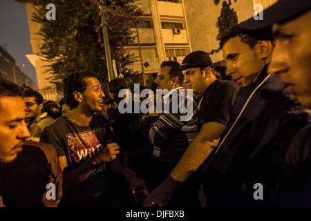
[[[219,34],[218,18],[223,9],[223,2],[236,12],[238,23],[254,16],[256,4],[267,8],[276,0],[183,0],[188,22],[189,39],[192,50],[211,52],[219,48],[217,36]],[[225,18],[227,19],[225,14]],[[214,62],[223,60],[223,52],[211,54]]]

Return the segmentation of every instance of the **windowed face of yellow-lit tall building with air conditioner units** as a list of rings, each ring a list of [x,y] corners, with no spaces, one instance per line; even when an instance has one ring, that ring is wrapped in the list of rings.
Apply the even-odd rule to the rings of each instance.
[[[149,85],[162,61],[181,62],[191,47],[182,0],[140,0],[139,4],[143,15],[133,22],[135,41],[126,49],[138,57],[129,68],[144,72]]]

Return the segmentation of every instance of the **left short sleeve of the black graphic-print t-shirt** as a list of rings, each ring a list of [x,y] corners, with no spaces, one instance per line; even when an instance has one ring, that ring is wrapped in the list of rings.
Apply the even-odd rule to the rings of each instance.
[[[64,139],[55,128],[46,127],[42,132],[40,142],[52,144],[57,150],[58,157],[66,156],[64,151],[66,144],[64,144]]]

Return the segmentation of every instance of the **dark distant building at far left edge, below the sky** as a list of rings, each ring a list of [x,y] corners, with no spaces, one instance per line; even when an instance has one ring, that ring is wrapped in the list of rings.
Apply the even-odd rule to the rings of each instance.
[[[36,89],[35,82],[23,73],[19,66],[21,64],[16,64],[14,57],[5,48],[0,46],[0,76],[19,86]]]

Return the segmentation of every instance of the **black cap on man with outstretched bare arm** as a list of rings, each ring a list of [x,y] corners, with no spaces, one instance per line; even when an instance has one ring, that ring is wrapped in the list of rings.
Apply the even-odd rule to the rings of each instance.
[[[214,68],[213,61],[211,61],[211,57],[209,57],[209,54],[202,50],[196,50],[194,52],[191,52],[182,60],[181,64],[182,70],[187,70],[189,68],[206,67]]]

